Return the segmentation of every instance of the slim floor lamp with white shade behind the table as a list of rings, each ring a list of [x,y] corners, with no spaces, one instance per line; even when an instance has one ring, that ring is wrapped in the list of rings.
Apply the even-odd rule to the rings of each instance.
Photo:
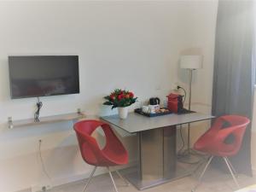
[[[193,71],[202,68],[202,58],[202,55],[182,55],[180,58],[180,67],[189,71],[189,110],[191,108]],[[190,124],[188,125],[188,153],[190,153]]]

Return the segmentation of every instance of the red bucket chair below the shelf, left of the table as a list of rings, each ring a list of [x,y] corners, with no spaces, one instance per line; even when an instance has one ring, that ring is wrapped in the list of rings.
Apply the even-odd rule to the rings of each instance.
[[[102,127],[106,137],[106,144],[102,149],[97,144],[96,139],[91,137],[93,131],[100,126]],[[74,130],[76,131],[78,137],[79,148],[84,161],[92,166],[95,166],[83,191],[85,191],[91,178],[96,172],[96,167],[106,166],[108,168],[108,173],[111,177],[113,187],[115,191],[118,192],[109,166],[120,166],[128,163],[128,153],[123,144],[119,141],[118,137],[115,136],[110,126],[99,120],[79,121],[74,125]],[[129,185],[125,178],[122,177],[118,171],[116,172],[119,177],[121,177],[125,183]]]

